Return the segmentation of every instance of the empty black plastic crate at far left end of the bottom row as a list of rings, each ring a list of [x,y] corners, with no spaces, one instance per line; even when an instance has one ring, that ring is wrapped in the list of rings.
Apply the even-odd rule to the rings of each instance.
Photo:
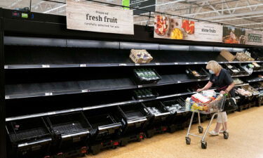
[[[52,135],[42,117],[7,121],[10,157],[46,157],[50,155]]]

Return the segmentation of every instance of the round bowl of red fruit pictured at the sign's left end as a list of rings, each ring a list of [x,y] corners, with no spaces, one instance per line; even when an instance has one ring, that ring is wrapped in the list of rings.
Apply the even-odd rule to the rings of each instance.
[[[158,34],[159,36],[165,35],[168,30],[169,30],[169,20],[168,17],[162,16],[162,15],[157,15],[154,18],[154,25],[155,25],[155,30],[154,32]]]

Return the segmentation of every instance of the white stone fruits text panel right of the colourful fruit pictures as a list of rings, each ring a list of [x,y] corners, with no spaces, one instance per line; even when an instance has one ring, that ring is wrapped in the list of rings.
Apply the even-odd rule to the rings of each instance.
[[[222,42],[223,26],[205,22],[196,22],[194,41]]]

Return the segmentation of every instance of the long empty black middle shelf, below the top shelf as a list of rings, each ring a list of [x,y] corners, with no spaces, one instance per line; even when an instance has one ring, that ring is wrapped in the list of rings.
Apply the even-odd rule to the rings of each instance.
[[[6,85],[6,99],[32,98],[44,96],[58,96],[76,93],[91,93],[99,91],[116,91],[170,84],[208,81],[207,79],[189,79],[187,74],[161,75],[157,84],[135,85],[131,79],[96,79],[88,81],[63,81],[36,84],[9,84]]]

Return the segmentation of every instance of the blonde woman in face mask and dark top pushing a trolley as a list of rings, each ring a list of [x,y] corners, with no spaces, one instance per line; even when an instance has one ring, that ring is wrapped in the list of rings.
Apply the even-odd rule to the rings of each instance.
[[[221,94],[228,93],[231,97],[234,98],[234,81],[231,78],[229,72],[222,68],[218,62],[211,60],[206,65],[206,69],[210,72],[210,79],[208,84],[206,84],[203,88],[197,89],[197,92],[208,90],[211,86],[215,86],[217,91]],[[220,130],[220,126],[224,123],[223,129]],[[224,129],[225,128],[225,129]],[[217,125],[213,131],[210,131],[211,136],[217,136],[219,133],[223,133],[227,131],[227,112],[222,112],[222,114],[218,114],[217,116]]]

